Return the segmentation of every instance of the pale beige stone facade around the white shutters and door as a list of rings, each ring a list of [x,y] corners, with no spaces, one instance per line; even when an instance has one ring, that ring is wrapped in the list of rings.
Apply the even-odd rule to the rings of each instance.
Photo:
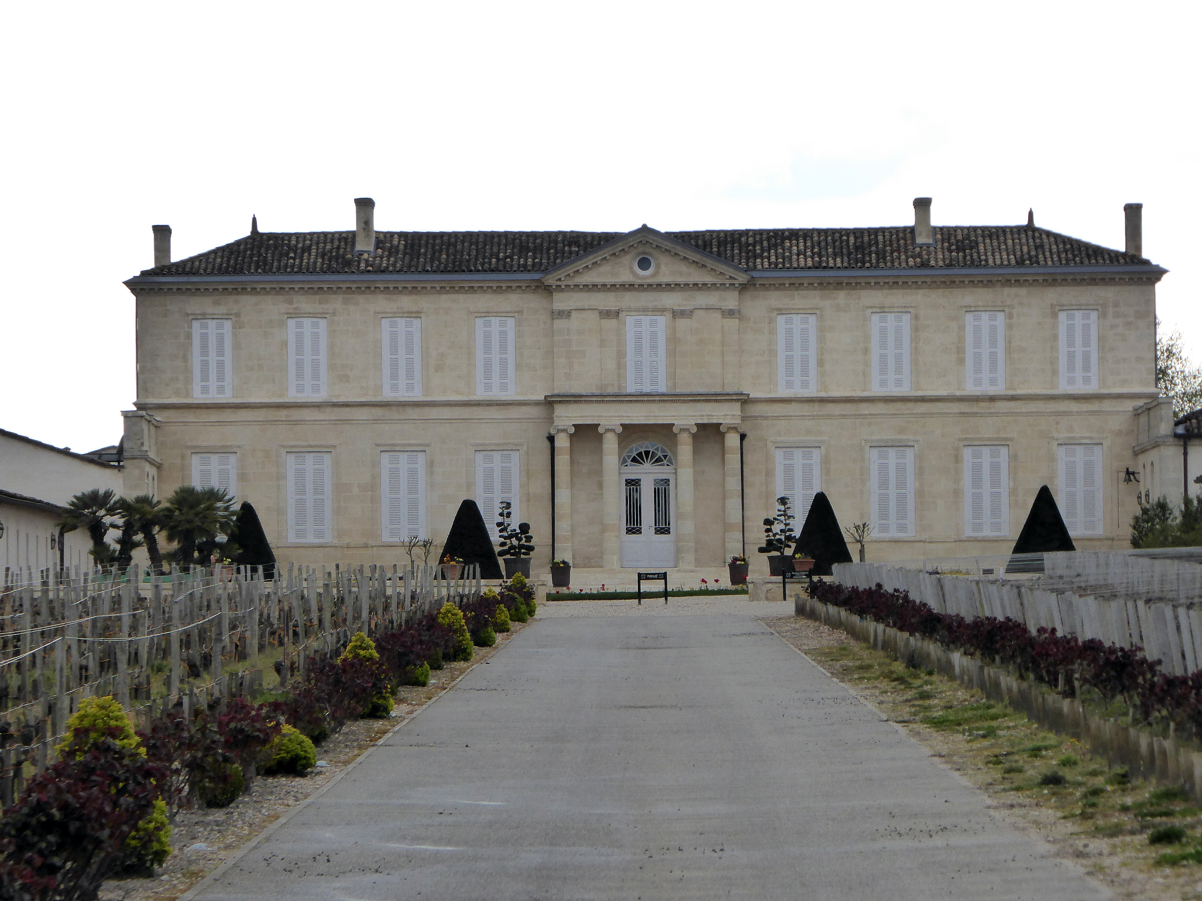
[[[226,268],[160,267],[127,282],[138,401],[126,413],[126,481],[144,490],[154,479],[165,496],[192,478],[194,454],[236,453],[238,499],[254,502],[281,560],[404,559],[381,533],[387,450],[427,452],[426,531],[439,547],[460,501],[480,496],[475,452],[516,450],[514,501],[538,539],[535,572],[546,572],[554,537],[555,557],[597,579],[627,553],[631,495],[619,461],[638,442],[673,460],[682,573],[744,550],[754,559],[775,507],[778,448],[817,449],[821,489],[844,524],[874,519],[873,448],[912,448],[912,533],[873,538],[875,560],[1008,550],[1040,485],[1060,490],[1066,443],[1101,446],[1100,526],[1078,548],[1125,547],[1136,512],[1124,473],[1142,465],[1133,410],[1156,405],[1164,270],[1130,255],[1094,265],[786,270],[736,265],[644,226],[534,273]],[[1096,311],[1088,389],[1061,388],[1066,310]],[[1005,314],[1004,389],[966,383],[974,311]],[[905,390],[874,390],[873,315],[882,312],[909,314]],[[791,314],[813,316],[809,393],[780,389],[778,317]],[[498,316],[514,326],[512,394],[481,396],[476,320]],[[290,317],[326,322],[323,396],[290,398]],[[381,390],[381,321],[393,317],[421,320],[421,396]],[[630,390],[631,317],[662,317],[659,390]],[[194,396],[196,320],[231,323],[226,398]],[[983,537],[965,527],[964,454],[978,444],[1008,455],[1008,517]],[[332,454],[326,542],[288,541],[286,454],[299,450]]]

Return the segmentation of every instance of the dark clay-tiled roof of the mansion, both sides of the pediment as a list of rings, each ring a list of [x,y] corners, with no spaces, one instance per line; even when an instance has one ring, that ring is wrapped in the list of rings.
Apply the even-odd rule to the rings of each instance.
[[[307,275],[315,273],[540,273],[624,232],[376,232],[356,256],[355,232],[261,232],[142,275]],[[665,232],[748,272],[1147,265],[1133,253],[1027,226],[944,226],[934,246],[914,228],[769,228]]]

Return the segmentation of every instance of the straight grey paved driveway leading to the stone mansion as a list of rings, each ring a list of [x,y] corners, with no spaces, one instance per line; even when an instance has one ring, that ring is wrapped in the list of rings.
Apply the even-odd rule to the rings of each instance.
[[[1108,897],[743,603],[545,605],[202,897]]]

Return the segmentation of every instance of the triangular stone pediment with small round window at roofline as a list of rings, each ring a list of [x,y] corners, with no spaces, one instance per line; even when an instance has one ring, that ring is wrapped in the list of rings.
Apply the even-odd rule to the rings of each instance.
[[[649,261],[649,262],[648,262]],[[569,259],[542,276],[549,287],[742,285],[743,269],[648,226]]]

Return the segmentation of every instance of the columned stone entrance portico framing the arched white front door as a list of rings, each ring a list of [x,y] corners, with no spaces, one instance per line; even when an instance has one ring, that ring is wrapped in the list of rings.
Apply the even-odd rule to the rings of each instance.
[[[742,392],[547,395],[555,556],[577,569],[692,571],[716,569],[742,553],[746,399]],[[600,447],[585,437],[593,429]]]

